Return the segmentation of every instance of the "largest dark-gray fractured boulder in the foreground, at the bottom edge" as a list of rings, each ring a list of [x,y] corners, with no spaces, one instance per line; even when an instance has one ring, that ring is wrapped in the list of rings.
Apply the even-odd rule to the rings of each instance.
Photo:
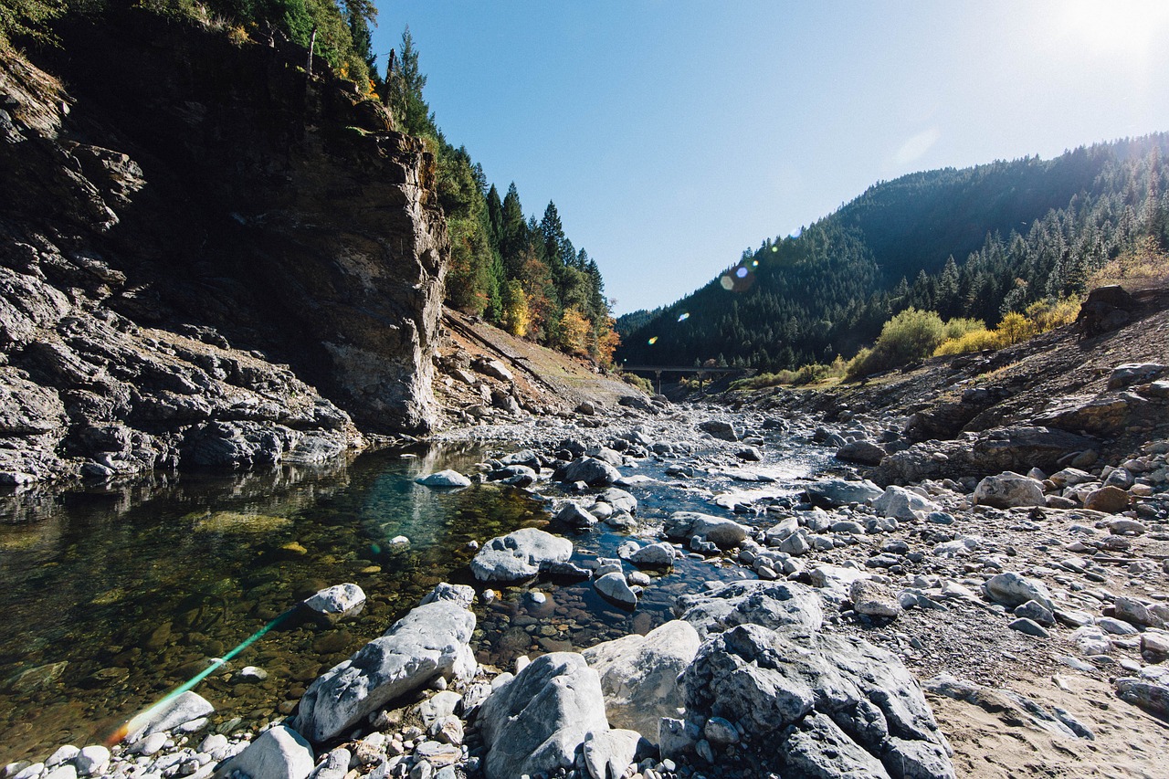
[[[682,683],[687,717],[743,729],[746,775],[954,777],[916,681],[860,639],[740,625],[704,643]]]

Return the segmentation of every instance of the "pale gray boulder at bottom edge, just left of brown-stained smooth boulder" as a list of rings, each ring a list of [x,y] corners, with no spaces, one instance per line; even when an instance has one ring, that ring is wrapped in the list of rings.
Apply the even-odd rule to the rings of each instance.
[[[570,768],[576,750],[609,730],[597,673],[575,653],[537,657],[479,706],[487,779]]]

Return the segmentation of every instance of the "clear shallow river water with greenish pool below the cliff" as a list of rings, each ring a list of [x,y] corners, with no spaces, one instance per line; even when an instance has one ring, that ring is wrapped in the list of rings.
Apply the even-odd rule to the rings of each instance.
[[[521,490],[441,491],[414,478],[443,468],[468,471],[483,454],[419,448],[319,469],[182,474],[127,490],[0,497],[0,764],[103,740],[321,587],[357,582],[368,598],[365,612],[334,627],[289,620],[265,634],[196,688],[215,705],[215,723],[256,728],[286,713],[319,673],[385,632],[438,581],[482,592],[469,573],[468,542],[542,526],[546,506]],[[790,494],[814,460],[789,454],[752,469],[775,483],[726,475],[631,491],[650,522],[680,509],[725,515],[708,488]],[[666,480],[667,464],[646,461],[628,473]],[[408,537],[409,546],[393,546],[395,536]],[[575,536],[574,559],[614,556],[625,538]],[[493,604],[476,605],[472,646],[480,662],[506,667],[521,654],[645,633],[671,619],[678,594],[742,575],[734,566],[684,559],[655,579],[636,611],[609,604],[587,581],[497,586]],[[546,602],[535,604],[531,590]],[[238,682],[243,666],[269,677]]]

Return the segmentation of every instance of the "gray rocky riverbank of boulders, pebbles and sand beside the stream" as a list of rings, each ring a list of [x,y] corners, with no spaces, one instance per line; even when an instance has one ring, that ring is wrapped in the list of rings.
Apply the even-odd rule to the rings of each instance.
[[[483,539],[473,586],[436,588],[286,721],[234,732],[200,706],[104,767],[65,749],[6,775],[1158,775],[1164,436],[1091,463],[1079,441],[1028,463],[1049,449],[988,436],[1022,473],[994,460],[881,488],[839,460],[796,491],[769,475],[795,448],[831,455],[906,419],[660,399],[581,412],[447,434],[511,441],[461,476],[545,496],[546,530]],[[728,475],[741,488],[710,489]],[[644,509],[671,490],[707,510]],[[569,561],[597,532],[627,536],[617,556]],[[563,582],[636,613],[683,559],[740,581],[687,581],[677,620],[644,635],[577,647],[559,629]],[[487,666],[477,614],[516,592],[542,614],[523,629],[563,650]]]

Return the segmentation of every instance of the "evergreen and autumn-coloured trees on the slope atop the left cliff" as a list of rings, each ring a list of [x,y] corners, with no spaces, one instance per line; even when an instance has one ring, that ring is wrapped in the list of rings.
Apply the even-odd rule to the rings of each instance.
[[[0,48],[57,46],[53,22],[103,14],[152,13],[220,29],[235,44],[289,41],[312,50],[360,95],[383,103],[402,131],[421,137],[447,216],[451,256],[447,303],[484,316],[516,336],[610,361],[617,338],[601,271],[565,234],[556,206],[525,215],[512,184],[500,198],[482,166],[438,127],[423,97],[427,77],[409,28],[380,74],[371,48],[372,0],[0,0]],[[305,62],[309,62],[306,58]]]

